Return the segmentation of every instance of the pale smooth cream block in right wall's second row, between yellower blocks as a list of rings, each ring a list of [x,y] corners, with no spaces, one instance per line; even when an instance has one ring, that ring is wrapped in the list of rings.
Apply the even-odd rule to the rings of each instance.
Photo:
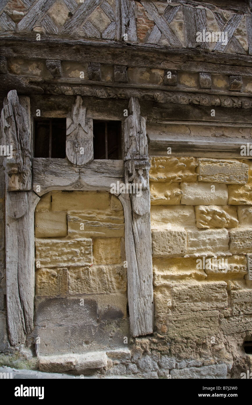
[[[226,184],[192,182],[181,183],[180,187],[183,193],[181,204],[227,205],[228,192]]]

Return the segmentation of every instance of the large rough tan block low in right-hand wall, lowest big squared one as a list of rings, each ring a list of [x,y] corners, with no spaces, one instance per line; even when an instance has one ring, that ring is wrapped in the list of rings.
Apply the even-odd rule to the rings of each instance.
[[[227,302],[227,283],[213,281],[173,286],[172,308],[174,312],[213,311],[225,309]]]

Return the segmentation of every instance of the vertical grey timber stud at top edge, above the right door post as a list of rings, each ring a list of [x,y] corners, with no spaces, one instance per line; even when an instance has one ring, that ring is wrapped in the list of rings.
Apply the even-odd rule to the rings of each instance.
[[[121,39],[127,34],[127,40],[132,42],[138,39],[134,7],[133,0],[121,0]]]

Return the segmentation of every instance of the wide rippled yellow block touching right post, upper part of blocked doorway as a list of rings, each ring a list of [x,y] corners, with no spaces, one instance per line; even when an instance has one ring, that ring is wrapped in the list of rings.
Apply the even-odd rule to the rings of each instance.
[[[69,211],[68,235],[71,238],[123,237],[123,211]]]

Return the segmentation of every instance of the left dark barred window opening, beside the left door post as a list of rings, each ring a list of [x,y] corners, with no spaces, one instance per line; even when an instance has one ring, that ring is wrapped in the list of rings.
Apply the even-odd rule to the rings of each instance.
[[[66,118],[36,119],[34,157],[66,158]]]

